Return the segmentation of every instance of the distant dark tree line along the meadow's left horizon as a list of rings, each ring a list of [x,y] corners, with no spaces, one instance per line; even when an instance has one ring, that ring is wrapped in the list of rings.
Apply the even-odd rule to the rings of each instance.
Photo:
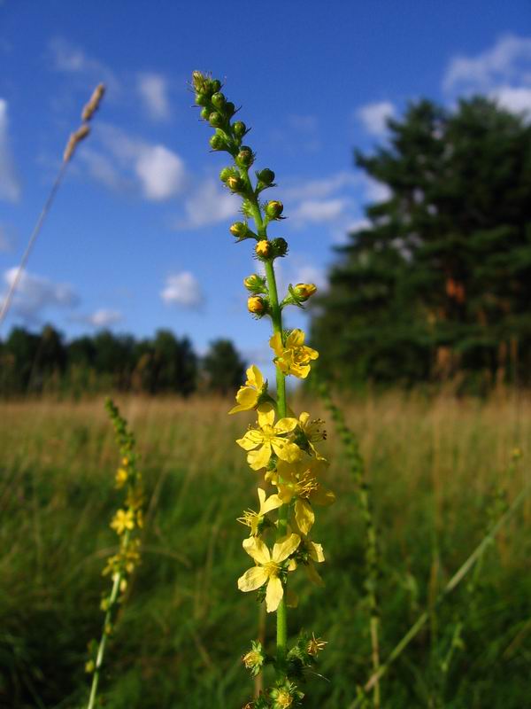
[[[151,339],[99,331],[65,341],[50,324],[40,332],[12,329],[0,340],[0,395],[196,391],[232,393],[245,364],[233,343],[217,339],[199,357],[188,338],[159,330]]]

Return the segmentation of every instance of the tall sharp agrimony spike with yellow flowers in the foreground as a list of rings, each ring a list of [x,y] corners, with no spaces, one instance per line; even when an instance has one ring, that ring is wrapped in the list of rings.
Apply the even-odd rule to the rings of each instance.
[[[236,108],[221,92],[221,82],[194,72],[192,87],[201,117],[214,129],[210,139],[213,151],[227,152],[232,163],[219,174],[228,191],[242,198],[242,222],[230,227],[237,242],[250,241],[253,255],[263,273],[244,279],[249,292],[247,306],[257,319],[268,317],[273,334],[269,340],[276,369],[276,393],[256,365],[247,370],[247,381],[236,393],[236,405],[229,413],[256,411],[257,424],[236,442],[247,453],[250,470],[259,476],[258,510],[247,510],[239,519],[249,528],[242,546],[254,564],[238,579],[243,592],[256,591],[265,601],[266,610],[276,613],[276,652],[269,655],[259,642],[251,643],[243,656],[244,665],[257,675],[271,664],[275,670],[272,687],[250,701],[246,709],[288,709],[300,705],[304,692],[301,683],[305,671],[315,664],[325,642],[315,635],[301,633],[291,647],[288,643],[288,606],[296,605],[290,577],[304,570],[308,580],[321,585],[317,566],[324,562],[322,546],[312,541],[315,506],[334,502],[335,495],[322,483],[327,461],[316,444],[326,437],[323,422],[312,419],[306,411],[298,417],[289,409],[286,378],[307,378],[318,353],[304,344],[304,331],[286,330],[282,322],[284,308],[304,307],[316,287],[314,284],[289,285],[280,297],[274,262],[288,253],[284,238],[269,238],[272,222],[283,219],[278,200],[263,201],[262,192],[275,186],[274,173],[262,168],[250,176],[255,153],[243,144],[246,125],[235,120]],[[267,488],[269,489],[269,492]]]

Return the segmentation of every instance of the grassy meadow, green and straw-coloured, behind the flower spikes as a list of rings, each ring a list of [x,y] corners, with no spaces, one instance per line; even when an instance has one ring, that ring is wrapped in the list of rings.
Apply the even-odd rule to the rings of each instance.
[[[247,531],[235,520],[256,509],[258,476],[235,439],[251,417],[228,417],[232,401],[117,403],[136,434],[149,503],[142,565],[105,660],[104,706],[242,706],[252,691],[242,653],[250,637],[265,632],[272,647],[274,637],[273,617],[261,631],[258,605],[236,588],[250,559]],[[308,407],[319,413],[317,402]],[[504,495],[511,501],[529,481],[531,399],[388,394],[344,408],[373,490],[386,658],[481,541]],[[109,521],[121,499],[112,426],[103,399],[3,402],[0,420],[0,706],[81,707],[87,644],[99,637],[109,588],[101,573],[116,543]],[[327,430],[337,501],[312,533],[325,549],[326,588],[300,586],[289,622],[329,643],[307,706],[332,709],[349,707],[370,676],[370,639],[363,524],[348,464],[331,424]],[[516,447],[524,456],[512,467]],[[531,498],[479,573],[435,609],[391,667],[383,707],[528,705],[530,521]]]

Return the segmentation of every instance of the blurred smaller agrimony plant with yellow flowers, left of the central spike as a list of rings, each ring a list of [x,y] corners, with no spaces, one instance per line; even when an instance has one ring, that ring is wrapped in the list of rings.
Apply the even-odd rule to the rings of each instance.
[[[100,641],[89,643],[90,657],[86,669],[92,674],[92,684],[87,709],[96,706],[107,641],[113,633],[119,604],[127,591],[127,582],[140,562],[140,531],[143,526],[144,494],[142,474],[138,470],[135,435],[129,431],[126,419],[120,416],[118,407],[111,399],[105,401],[105,409],[111,418],[119,446],[116,487],[123,489],[126,495],[123,505],[111,520],[111,527],[118,535],[119,549],[107,559],[103,572],[104,576],[111,577],[112,585],[111,590],[102,598],[101,609],[105,615]]]

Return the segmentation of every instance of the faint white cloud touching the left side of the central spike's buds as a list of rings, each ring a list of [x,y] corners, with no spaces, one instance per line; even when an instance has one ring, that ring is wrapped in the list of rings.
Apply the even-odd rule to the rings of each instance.
[[[186,218],[175,223],[176,229],[200,229],[231,219],[238,213],[240,199],[219,187],[215,180],[206,180],[185,200]]]

